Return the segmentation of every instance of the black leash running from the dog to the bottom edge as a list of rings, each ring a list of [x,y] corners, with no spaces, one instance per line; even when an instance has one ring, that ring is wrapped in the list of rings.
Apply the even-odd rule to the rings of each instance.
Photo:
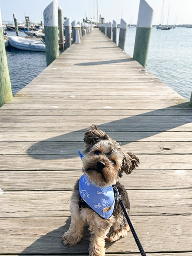
[[[136,244],[137,244],[137,246],[138,246],[138,249],[139,249],[139,251],[140,251],[140,254],[141,254],[142,256],[146,256],[145,251],[144,251],[144,249],[143,249],[143,247],[142,247],[142,245],[141,245],[141,243],[140,243],[140,241],[139,241],[139,238],[138,238],[138,236],[137,236],[137,234],[136,234],[136,232],[135,232],[135,229],[133,228],[133,225],[132,225],[132,223],[131,223],[131,221],[130,221],[130,219],[129,219],[129,216],[128,216],[127,212],[126,212],[126,209],[125,209],[125,207],[124,207],[124,205],[123,205],[123,202],[122,202],[122,200],[121,200],[121,195],[119,194],[119,191],[118,191],[117,187],[113,186],[113,188],[114,188],[114,190],[116,190],[116,193],[117,193],[117,201],[118,201],[119,204],[121,205],[121,208],[122,208],[122,210],[123,210],[123,212],[124,212],[124,214],[125,214],[125,217],[126,217],[127,222],[128,222],[128,224],[129,224],[130,230],[131,230],[131,232],[132,232],[132,234],[133,234],[133,237],[134,237],[134,239],[135,239],[135,242],[136,242]]]

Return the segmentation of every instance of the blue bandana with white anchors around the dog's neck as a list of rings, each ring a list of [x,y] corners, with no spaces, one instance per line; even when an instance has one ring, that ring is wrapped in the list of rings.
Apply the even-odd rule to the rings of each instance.
[[[86,175],[82,175],[79,180],[79,193],[84,202],[103,219],[111,217],[115,205],[112,186],[96,187],[91,184]]]

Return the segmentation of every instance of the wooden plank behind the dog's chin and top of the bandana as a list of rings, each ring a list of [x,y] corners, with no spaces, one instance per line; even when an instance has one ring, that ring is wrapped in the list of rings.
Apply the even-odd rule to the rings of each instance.
[[[4,191],[72,190],[81,175],[81,170],[1,171],[0,187]],[[192,171],[134,170],[131,175],[123,175],[120,182],[129,190],[192,189]]]

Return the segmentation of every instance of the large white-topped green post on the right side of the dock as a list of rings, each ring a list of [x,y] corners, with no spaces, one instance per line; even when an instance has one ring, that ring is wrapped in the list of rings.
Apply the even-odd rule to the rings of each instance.
[[[143,67],[147,64],[153,9],[146,0],[140,0],[133,59]]]

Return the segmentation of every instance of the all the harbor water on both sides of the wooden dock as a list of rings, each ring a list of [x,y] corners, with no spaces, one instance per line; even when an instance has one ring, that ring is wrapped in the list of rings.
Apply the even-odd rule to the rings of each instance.
[[[133,56],[136,28],[128,28],[125,51]],[[12,34],[12,32],[9,32]],[[14,32],[15,35],[15,32]],[[25,35],[21,32],[21,36]],[[45,52],[7,50],[12,91],[27,85],[46,67]],[[186,99],[192,91],[192,28],[153,28],[147,69]]]

